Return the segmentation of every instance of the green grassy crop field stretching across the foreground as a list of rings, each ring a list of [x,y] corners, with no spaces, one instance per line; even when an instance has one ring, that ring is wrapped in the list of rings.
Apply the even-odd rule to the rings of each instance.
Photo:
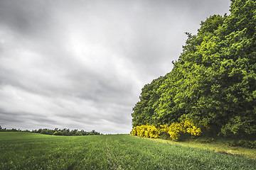
[[[256,169],[256,161],[130,135],[0,132],[0,169]]]

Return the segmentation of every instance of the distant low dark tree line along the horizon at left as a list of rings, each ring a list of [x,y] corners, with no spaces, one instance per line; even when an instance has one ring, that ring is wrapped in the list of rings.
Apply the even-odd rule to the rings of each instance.
[[[20,130],[20,129],[6,129],[6,128],[2,128],[0,126],[0,132],[34,132],[34,133],[41,133],[41,134],[45,134],[45,135],[62,135],[62,136],[80,136],[80,135],[103,135],[100,134],[100,132],[96,132],[95,130],[92,130],[90,132],[87,132],[85,130],[70,130],[67,128],[64,129],[58,129],[55,128],[54,130],[50,130],[50,129],[38,129],[38,130]]]

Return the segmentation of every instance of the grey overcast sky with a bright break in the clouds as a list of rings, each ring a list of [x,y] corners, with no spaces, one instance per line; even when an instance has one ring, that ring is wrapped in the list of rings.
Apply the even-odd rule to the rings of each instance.
[[[229,0],[0,0],[0,125],[129,133],[144,84]]]

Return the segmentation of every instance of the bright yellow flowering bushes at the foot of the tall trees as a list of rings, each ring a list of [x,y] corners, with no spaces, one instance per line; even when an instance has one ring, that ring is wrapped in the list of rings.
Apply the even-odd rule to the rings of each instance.
[[[136,126],[132,130],[132,135],[137,135],[139,137],[150,137],[150,138],[159,138],[160,133],[168,133],[171,137],[171,140],[178,140],[182,134],[188,133],[193,136],[199,136],[202,133],[201,127],[208,126],[203,123],[198,123],[195,125],[191,119],[183,119],[180,123],[171,123],[171,125],[160,125],[160,128],[157,129],[154,125],[141,125]]]

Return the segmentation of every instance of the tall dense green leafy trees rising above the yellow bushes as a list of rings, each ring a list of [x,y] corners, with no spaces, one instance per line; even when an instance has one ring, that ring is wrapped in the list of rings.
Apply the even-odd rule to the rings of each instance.
[[[202,120],[220,135],[256,134],[256,1],[234,0],[188,35],[174,69],[146,84],[133,126]]]

